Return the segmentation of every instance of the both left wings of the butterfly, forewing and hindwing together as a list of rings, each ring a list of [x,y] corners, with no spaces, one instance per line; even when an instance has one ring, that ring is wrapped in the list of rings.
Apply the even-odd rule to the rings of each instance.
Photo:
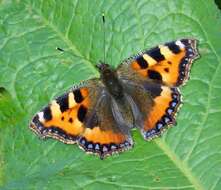
[[[89,81],[58,97],[34,116],[31,130],[42,138],[77,143],[101,158],[129,149],[130,135],[116,125],[108,100],[100,96],[101,89],[99,81]]]

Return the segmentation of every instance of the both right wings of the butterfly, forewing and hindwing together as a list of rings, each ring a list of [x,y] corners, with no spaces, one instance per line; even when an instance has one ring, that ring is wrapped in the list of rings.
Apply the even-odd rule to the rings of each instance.
[[[141,114],[145,115],[141,127],[145,139],[158,136],[166,126],[175,123],[181,104],[177,87],[189,78],[191,64],[198,57],[196,43],[194,39],[165,43],[127,59],[118,67],[125,85],[128,81],[142,85],[146,96],[153,102],[144,105],[136,100]]]

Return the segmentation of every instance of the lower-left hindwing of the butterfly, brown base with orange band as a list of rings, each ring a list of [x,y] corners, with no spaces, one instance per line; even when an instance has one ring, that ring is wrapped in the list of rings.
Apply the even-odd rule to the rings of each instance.
[[[91,122],[91,119],[95,120],[95,124],[86,128],[79,139],[79,145],[84,150],[97,153],[103,158],[132,147],[130,133],[123,132],[115,121],[110,97],[105,92],[94,107],[88,122]]]

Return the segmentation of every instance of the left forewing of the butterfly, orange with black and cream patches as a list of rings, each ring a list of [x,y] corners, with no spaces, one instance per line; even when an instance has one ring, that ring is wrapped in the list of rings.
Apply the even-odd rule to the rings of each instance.
[[[90,103],[87,87],[70,90],[37,113],[30,128],[42,138],[74,144],[84,131],[82,121]]]

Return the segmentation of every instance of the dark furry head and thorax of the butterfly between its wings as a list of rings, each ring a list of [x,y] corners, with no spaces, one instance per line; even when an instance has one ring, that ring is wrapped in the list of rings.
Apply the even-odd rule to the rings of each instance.
[[[116,99],[123,98],[123,87],[117,77],[117,73],[105,63],[100,63],[97,67],[107,91]]]

